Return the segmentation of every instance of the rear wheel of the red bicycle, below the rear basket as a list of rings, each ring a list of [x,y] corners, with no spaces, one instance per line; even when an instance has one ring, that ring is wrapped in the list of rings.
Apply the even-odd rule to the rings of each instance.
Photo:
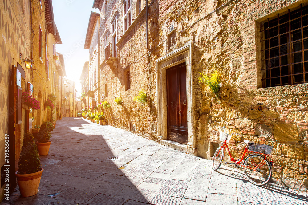
[[[263,156],[254,154],[250,155],[250,158],[247,156],[244,161],[245,166],[252,168],[249,169],[244,167],[245,176],[251,183],[257,186],[268,183],[273,175],[270,162],[267,159],[263,160]],[[253,170],[254,168],[255,170]]]

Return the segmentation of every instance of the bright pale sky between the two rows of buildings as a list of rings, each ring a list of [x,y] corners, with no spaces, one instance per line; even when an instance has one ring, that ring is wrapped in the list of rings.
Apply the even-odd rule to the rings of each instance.
[[[62,44],[56,51],[63,54],[68,79],[75,81],[77,96],[81,95],[79,78],[85,61],[89,61],[89,50],[83,49],[93,0],[53,0],[55,23]]]

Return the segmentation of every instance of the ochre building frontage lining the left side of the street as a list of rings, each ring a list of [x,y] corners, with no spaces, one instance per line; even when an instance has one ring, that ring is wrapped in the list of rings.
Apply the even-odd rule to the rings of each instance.
[[[1,176],[4,176],[4,141],[8,135],[12,189],[16,183],[14,172],[18,170],[24,133],[51,118],[44,102],[48,94],[58,92],[54,82],[62,68],[56,70],[52,48],[55,50],[55,44],[61,43],[61,39],[51,0],[0,1],[0,31],[0,166]],[[34,61],[30,69],[23,61],[27,57]],[[31,110],[22,106],[23,92],[39,100],[41,108]],[[4,188],[2,183],[1,199],[5,197]]]

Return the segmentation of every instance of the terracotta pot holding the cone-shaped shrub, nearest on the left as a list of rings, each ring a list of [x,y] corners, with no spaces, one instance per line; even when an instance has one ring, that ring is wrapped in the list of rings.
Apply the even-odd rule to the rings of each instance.
[[[18,171],[15,172],[19,191],[23,197],[33,196],[38,193],[39,182],[41,181],[43,171],[44,169],[41,168],[40,171],[32,174],[18,174]]]

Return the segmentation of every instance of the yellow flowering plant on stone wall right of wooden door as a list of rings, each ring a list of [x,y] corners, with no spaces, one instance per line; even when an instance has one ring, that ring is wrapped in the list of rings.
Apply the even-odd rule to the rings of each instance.
[[[220,101],[220,94],[218,92],[221,87],[221,82],[220,74],[218,71],[215,69],[214,72],[210,73],[209,75],[205,74],[205,71],[200,74],[201,76],[198,77],[199,83],[204,83],[205,85],[209,86],[209,88],[216,95],[217,99]]]

